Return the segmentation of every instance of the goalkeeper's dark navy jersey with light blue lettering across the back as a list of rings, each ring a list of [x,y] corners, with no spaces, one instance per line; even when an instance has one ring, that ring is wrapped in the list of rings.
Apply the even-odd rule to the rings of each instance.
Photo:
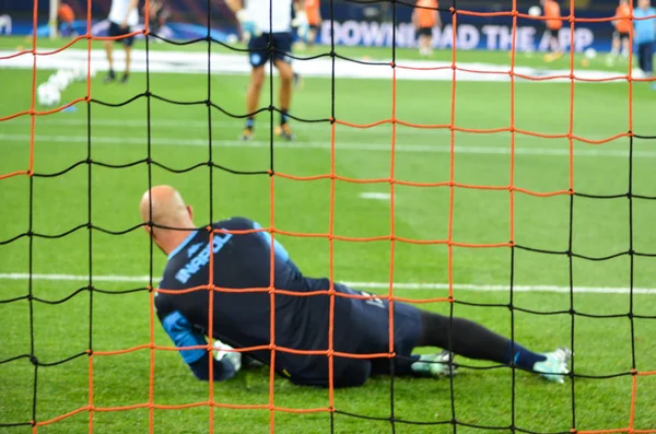
[[[214,228],[226,231],[251,231],[261,228],[256,222],[233,218],[216,222]],[[168,262],[160,289],[186,290],[207,285],[210,279],[210,235],[208,231],[191,233],[168,256]],[[273,261],[271,260],[273,250]],[[204,345],[209,335],[209,313],[212,308],[212,337],[234,348],[269,345],[271,342],[271,295],[268,292],[273,266],[274,288],[298,295],[274,295],[274,343],[295,350],[328,349],[330,297],[328,295],[303,296],[312,291],[327,291],[327,279],[305,278],[290,258],[284,247],[271,243],[268,232],[241,234],[214,234],[212,241],[213,306],[209,291],[184,293],[157,293],[157,317],[176,347]],[[220,289],[231,289],[223,292]],[[258,292],[238,292],[239,289],[259,289]],[[338,291],[352,292],[347,288]],[[353,298],[335,297],[333,341],[336,351],[354,352],[358,339],[347,339],[352,328]],[[356,301],[360,303],[360,301]],[[351,322],[350,322],[351,321]],[[352,330],[351,330],[352,332]],[[383,332],[386,332],[383,329]],[[181,350],[180,354],[190,366],[208,359],[203,349]],[[248,355],[269,364],[271,351],[249,351]],[[276,353],[274,367],[285,375],[313,370],[316,356]],[[233,374],[226,373],[225,378]]]

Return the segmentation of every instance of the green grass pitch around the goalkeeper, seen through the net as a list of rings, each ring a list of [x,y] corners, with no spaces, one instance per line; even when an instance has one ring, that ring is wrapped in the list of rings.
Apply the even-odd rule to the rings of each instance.
[[[24,42],[9,39],[5,47]],[[142,45],[138,48],[142,48]],[[162,45],[154,45],[161,49]],[[195,48],[196,49],[196,48]],[[389,50],[341,49],[345,55],[368,54],[389,59]],[[413,57],[411,51],[399,56]],[[450,52],[436,56],[449,59]],[[507,63],[506,54],[461,54],[462,61]],[[525,63],[539,59],[518,58]],[[400,60],[399,60],[400,62]],[[1,63],[0,63],[1,64]],[[567,68],[567,59],[561,60]],[[601,69],[601,67],[599,68]],[[50,71],[40,71],[39,80]],[[145,90],[145,75],[136,73],[127,85],[104,85],[99,73],[92,83],[94,98],[120,103]],[[0,69],[3,95],[0,116],[30,108],[32,77],[27,70]],[[210,78],[212,101],[231,113],[244,113],[247,78],[216,74]],[[180,101],[198,101],[207,96],[207,75],[156,73],[151,75],[151,91]],[[277,82],[274,81],[274,86]],[[276,89],[274,89],[276,92]],[[67,99],[84,96],[85,84],[75,83],[65,93]],[[269,104],[269,90],[262,93],[261,105]],[[573,99],[573,131],[589,139],[604,139],[629,129],[629,110],[633,114],[633,131],[655,134],[654,93],[644,83],[635,83],[632,104],[626,82],[577,83]],[[452,116],[452,84],[444,81],[399,81],[397,116],[414,124],[448,124]],[[276,103],[276,101],[274,101]],[[571,118],[569,84],[518,82],[515,86],[516,127],[542,133],[566,133]],[[327,118],[331,110],[330,80],[306,78],[294,94],[293,114],[303,118]],[[335,113],[350,122],[373,122],[391,114],[391,83],[387,80],[338,79]],[[511,121],[511,85],[504,82],[458,82],[456,86],[455,122],[464,128],[504,128]],[[38,174],[58,173],[86,159],[86,138],[91,133],[91,157],[107,165],[125,165],[147,156],[148,103],[139,98],[121,107],[79,104],[75,113],[59,113],[37,117],[35,122],[34,168]],[[151,99],[150,134],[152,157],[174,169],[183,169],[209,159],[208,109],[204,106],[178,106]],[[91,129],[87,131],[87,116]],[[235,140],[242,121],[211,110],[211,133],[214,163],[238,171],[267,171],[270,167],[268,115],[260,115],[257,141],[239,144]],[[276,117],[277,120],[277,117]],[[330,126],[328,124],[293,124],[297,145],[285,146],[274,139],[276,172],[314,176],[331,168]],[[0,122],[0,174],[25,169],[28,163],[30,118],[26,116]],[[336,132],[335,169],[340,176],[372,179],[390,175],[391,127],[371,129],[339,126]],[[507,186],[511,176],[509,133],[455,134],[458,152],[455,156],[457,183],[485,186]],[[450,137],[444,130],[397,128],[397,152],[394,176],[398,180],[438,183],[449,179]],[[656,195],[656,154],[649,140],[634,140],[632,167],[633,192]],[[514,183],[537,192],[566,190],[570,186],[567,139],[542,139],[517,136],[515,139]],[[575,142],[574,189],[589,195],[623,195],[629,189],[629,139],[605,144]],[[267,175],[233,175],[212,171],[212,208],[210,210],[210,169],[200,166],[186,173],[172,173],[151,166],[153,184],[176,186],[196,210],[197,224],[241,214],[267,225],[273,209],[277,228],[302,233],[327,233],[330,215],[331,183],[273,178],[274,196],[270,196],[271,179]],[[93,165],[91,186],[89,166],[79,165],[55,177],[33,179],[33,231],[56,235],[87,222],[87,200],[91,192],[91,221],[108,231],[124,231],[139,224],[138,202],[148,188],[145,163],[125,168]],[[389,201],[363,199],[364,192],[389,192],[388,183],[354,184],[336,181],[335,234],[350,237],[389,235]],[[395,186],[394,224],[397,236],[411,239],[446,239],[449,215],[448,187]],[[30,180],[15,176],[0,180],[0,241],[28,231]],[[273,199],[273,202],[272,202]],[[515,242],[537,249],[564,251],[569,243],[570,197],[535,197],[514,195]],[[273,203],[273,207],[271,206]],[[573,250],[593,257],[606,257],[626,251],[630,246],[630,214],[626,197],[617,199],[574,198]],[[656,253],[654,231],[656,201],[633,201],[633,249]],[[489,244],[509,241],[509,193],[507,190],[456,188],[454,192],[453,237],[456,242]],[[292,257],[308,275],[328,275],[329,242],[326,238],[277,235]],[[0,298],[19,297],[27,293],[26,280],[8,279],[9,273],[28,271],[30,241],[22,237],[0,245]],[[81,228],[61,238],[34,238],[33,272],[44,274],[85,275],[90,267],[94,275],[148,275],[151,267],[150,243],[141,228],[127,234],[110,235]],[[502,248],[454,248],[454,282],[478,288],[508,284],[511,251]],[[333,277],[338,281],[386,282],[391,262],[394,277],[401,283],[445,283],[447,248],[443,245],[396,243],[390,258],[390,243],[335,242]],[[91,260],[91,263],[90,263]],[[155,250],[152,257],[154,282],[165,258]],[[656,261],[635,257],[633,284],[654,288]],[[630,258],[590,261],[574,258],[572,269],[576,286],[628,288],[631,279]],[[527,250],[515,251],[516,285],[570,284],[570,262],[564,255],[546,255]],[[34,296],[61,300],[84,281],[34,280]],[[144,283],[94,281],[105,291],[139,288]],[[385,293],[385,289],[375,290]],[[396,290],[395,294],[411,298],[446,296],[446,290]],[[508,304],[508,292],[456,289],[455,298],[477,304]],[[633,313],[654,315],[655,295],[635,294]],[[92,303],[91,303],[92,302]],[[28,354],[31,317],[34,329],[34,352],[42,363],[52,363],[84,352],[89,348],[90,314],[93,315],[93,349],[114,351],[148,343],[150,296],[147,292],[129,294],[81,292],[69,301],[49,305],[21,301],[0,304],[3,338],[0,360]],[[630,296],[622,293],[576,293],[576,312],[593,316],[616,315],[612,318],[567,314],[514,314],[516,340],[537,351],[570,345],[574,324],[575,373],[610,376],[626,373],[632,367],[631,321],[626,317]],[[91,305],[90,305],[91,303]],[[567,310],[567,292],[517,292],[517,307],[537,312]],[[448,313],[449,306],[427,304],[423,307]],[[454,305],[454,314],[480,321],[508,335],[511,312],[507,307],[475,307]],[[635,367],[641,372],[656,371],[653,336],[656,321],[635,319]],[[154,328],[155,343],[171,345],[159,324]],[[485,363],[464,361],[485,366]],[[121,355],[94,356],[93,404],[98,408],[131,406],[149,401],[151,355],[149,350]],[[156,351],[154,357],[154,402],[185,404],[207,401],[208,383],[198,382],[173,351]],[[38,368],[36,420],[46,421],[89,404],[89,359],[83,355],[70,362]],[[0,423],[25,422],[32,418],[34,367],[21,359],[0,364]],[[575,427],[582,430],[626,429],[634,418],[634,427],[656,429],[656,377],[637,377],[635,412],[631,414],[631,376],[605,379],[576,378],[564,385],[546,383],[526,373],[516,373],[514,388],[514,424],[539,432],[569,432],[572,429],[573,404]],[[390,414],[390,379],[374,378],[358,389],[337,390],[338,410],[363,415],[388,418]],[[449,421],[452,389],[448,380],[394,380],[395,418],[421,422]],[[574,394],[573,394],[574,390]],[[455,418],[465,424],[508,426],[512,422],[512,372],[462,370],[454,379]],[[574,402],[572,397],[574,396]],[[269,374],[267,368],[241,373],[235,379],[214,385],[214,399],[221,403],[267,404]],[[284,379],[274,384],[274,403],[294,409],[328,406],[328,391],[296,387]],[[38,433],[86,433],[89,412],[38,429]],[[210,410],[206,407],[181,410],[154,410],[157,433],[207,433]],[[388,433],[389,421],[370,421],[342,414],[335,415],[338,433]],[[268,410],[214,409],[216,433],[268,433]],[[277,412],[278,433],[329,433],[327,413],[294,414]],[[94,433],[142,433],[149,430],[149,409],[95,412]],[[450,433],[453,426],[408,425],[396,423],[397,433]],[[30,433],[32,427],[0,429],[2,433]],[[459,433],[499,432],[458,426]],[[509,430],[506,430],[509,432]]]

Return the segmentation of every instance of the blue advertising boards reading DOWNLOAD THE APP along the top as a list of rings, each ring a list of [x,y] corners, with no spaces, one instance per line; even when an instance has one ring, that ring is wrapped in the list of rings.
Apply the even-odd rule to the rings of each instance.
[[[227,35],[236,33],[236,21],[229,11],[224,0],[210,0],[212,15],[210,16],[212,36],[225,42]],[[3,0],[0,14],[11,16],[11,34],[32,34],[32,4],[31,2],[17,2]],[[75,28],[83,34],[86,30],[86,1],[67,0],[75,12]],[[140,2],[143,4],[143,1]],[[518,0],[517,8],[526,12],[534,0]],[[570,10],[569,1],[561,1],[563,15]],[[92,34],[96,36],[106,35],[106,23],[104,22],[109,12],[108,0],[92,2],[93,28]],[[171,17],[167,23],[167,33],[163,36],[169,39],[194,39],[207,35],[207,4],[204,1],[196,0],[168,0]],[[576,1],[576,16],[582,19],[609,17],[614,13],[616,0]],[[450,2],[442,1],[442,8],[450,7]],[[460,1],[459,8],[477,12],[499,12],[509,10],[511,2],[506,1]],[[46,36],[48,30],[48,1],[39,1],[39,36]],[[412,37],[413,30],[410,24],[412,8],[398,4],[396,8],[397,22],[397,47],[411,47],[415,42]],[[391,3],[358,4],[344,1],[333,2],[333,14],[336,21],[336,44],[347,46],[391,46],[391,23],[394,12]],[[321,15],[330,16],[330,3],[321,2]],[[447,12],[443,12],[443,22],[447,28],[443,28],[443,38],[437,38],[437,48],[447,48],[452,44],[452,32]],[[141,17],[143,22],[143,16]],[[326,28],[320,32],[319,40],[329,44],[329,22],[324,23]],[[383,30],[383,31],[379,31]],[[471,16],[464,15],[458,19],[458,48],[459,49],[502,49],[511,48],[512,19],[509,16]],[[8,28],[0,27],[0,34],[8,34]],[[569,25],[565,24],[561,31],[562,38],[570,37]],[[582,22],[575,25],[575,50],[582,51],[588,47],[597,51],[610,50],[612,26],[608,22]],[[535,50],[541,47],[543,27],[537,26],[528,20],[518,22],[518,46],[519,51]]]

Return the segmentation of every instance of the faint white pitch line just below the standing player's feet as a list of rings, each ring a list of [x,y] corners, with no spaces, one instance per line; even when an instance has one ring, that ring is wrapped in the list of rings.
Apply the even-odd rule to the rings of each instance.
[[[36,142],[50,142],[50,143],[86,143],[86,136],[39,136],[34,137]],[[19,143],[22,142],[22,143]],[[30,142],[30,134],[0,134],[0,145],[26,145]],[[459,140],[461,142],[461,140]],[[124,137],[92,137],[91,143],[94,144],[140,144],[145,146],[145,138],[124,138]],[[207,146],[207,140],[199,139],[165,139],[165,138],[151,138],[153,145],[174,145],[174,146]],[[212,144],[221,148],[269,148],[269,141],[249,141],[243,142],[239,140],[212,140]],[[38,145],[38,144],[37,144]],[[277,140],[273,144],[276,149],[323,149],[330,150],[330,142],[325,141],[294,141],[286,142]],[[339,151],[380,151],[390,152],[391,145],[389,143],[371,143],[363,144],[361,142],[342,142],[338,141],[336,149]],[[456,153],[459,154],[478,154],[478,155],[509,155],[511,146],[469,146],[469,145],[456,145]],[[448,144],[397,144],[395,152],[410,152],[410,153],[450,153],[450,146]],[[549,148],[515,148],[515,155],[544,155],[544,156],[569,156],[570,150],[567,149],[549,149]],[[609,156],[609,157],[623,157],[629,156],[629,151],[621,150],[606,150],[599,149],[586,149],[586,150],[574,150],[575,156]],[[644,159],[656,159],[656,152],[651,151],[634,151],[634,157]]]

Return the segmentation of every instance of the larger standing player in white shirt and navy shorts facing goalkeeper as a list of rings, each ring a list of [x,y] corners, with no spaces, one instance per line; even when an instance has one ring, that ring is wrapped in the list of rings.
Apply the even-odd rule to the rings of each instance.
[[[292,101],[292,85],[294,71],[288,55],[292,51],[292,2],[296,10],[296,20],[303,21],[301,0],[226,0],[230,9],[235,13],[242,34],[248,39],[248,54],[250,66],[250,81],[246,93],[246,112],[255,113],[259,107],[259,96],[265,84],[267,61],[271,60],[280,75],[279,109],[280,125],[276,134],[286,140],[293,140],[294,134],[289,125],[289,115]],[[306,19],[305,19],[306,20]],[[272,50],[269,49],[271,44]],[[246,128],[242,133],[243,140],[251,140],[255,130],[255,116],[246,119]]]

